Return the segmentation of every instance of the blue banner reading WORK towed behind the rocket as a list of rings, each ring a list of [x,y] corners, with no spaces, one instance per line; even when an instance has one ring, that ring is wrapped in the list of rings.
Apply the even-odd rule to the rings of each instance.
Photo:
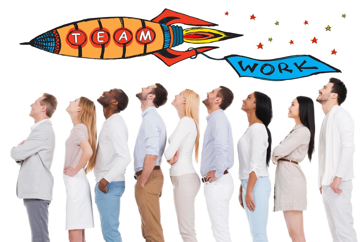
[[[287,56],[273,60],[256,60],[230,55],[225,60],[239,77],[254,77],[268,81],[284,81],[327,72],[341,72],[310,55]]]

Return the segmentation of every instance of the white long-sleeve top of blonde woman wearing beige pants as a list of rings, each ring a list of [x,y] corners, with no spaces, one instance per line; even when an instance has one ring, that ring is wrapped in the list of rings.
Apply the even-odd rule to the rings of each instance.
[[[192,153],[197,136],[196,123],[185,116],[181,118],[168,139],[169,146],[164,152],[166,160],[172,159],[178,150],[178,160],[169,169],[170,176],[181,176],[195,173],[192,164]]]

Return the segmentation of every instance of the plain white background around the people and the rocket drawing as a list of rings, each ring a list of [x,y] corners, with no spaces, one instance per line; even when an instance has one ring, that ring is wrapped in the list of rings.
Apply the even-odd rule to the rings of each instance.
[[[219,49],[207,52],[212,57],[222,58],[229,54],[240,54],[256,59],[272,59],[296,54],[310,54],[323,62],[342,71],[342,73],[326,73],[306,78],[282,82],[269,82],[254,78],[239,78],[226,61],[209,60],[199,55],[195,60],[184,60],[171,67],[166,66],[153,55],[131,58],[128,60],[92,60],[72,58],[44,52],[31,46],[21,46],[47,30],[69,22],[92,17],[125,16],[141,19],[153,19],[164,8],[185,13],[219,26],[214,28],[244,34],[239,38],[214,42]],[[272,98],[273,120],[269,125],[272,132],[273,147],[288,134],[294,126],[294,120],[287,118],[287,108],[298,95],[305,95],[313,100],[318,95],[318,89],[325,85],[330,77],[344,81],[348,88],[348,98],[343,103],[355,123],[354,153],[356,179],[353,180],[354,190],[352,204],[354,226],[358,241],[363,241],[362,201],[360,189],[363,163],[360,150],[363,146],[360,125],[362,110],[359,108],[363,92],[362,67],[362,20],[359,19],[363,6],[350,4],[349,1],[7,1],[1,8],[3,30],[1,31],[1,161],[2,161],[2,192],[1,192],[1,241],[30,241],[30,230],[27,213],[23,201],[15,194],[15,186],[19,167],[9,156],[12,146],[26,139],[33,119],[28,116],[35,99],[43,92],[51,93],[58,99],[58,108],[52,117],[56,134],[56,150],[51,171],[54,175],[53,201],[49,208],[49,232],[51,241],[67,241],[68,233],[65,227],[66,193],[62,179],[64,161],[64,141],[72,128],[71,119],[65,111],[68,102],[85,96],[96,103],[102,91],[112,88],[123,89],[129,96],[129,105],[121,113],[129,130],[128,145],[132,154],[135,138],[141,123],[140,102],[135,94],[141,87],[156,82],[166,87],[169,93],[168,102],[158,108],[167,127],[167,136],[171,134],[178,122],[177,112],[171,106],[174,95],[185,88],[193,89],[201,95],[201,101],[206,92],[220,85],[229,87],[235,99],[226,110],[233,129],[235,146],[235,162],[231,169],[235,181],[235,191],[230,202],[230,233],[232,241],[251,241],[248,221],[245,212],[238,204],[238,159],[236,144],[248,127],[246,114],[240,110],[242,99],[253,91],[261,91]],[[229,15],[225,16],[228,11]],[[346,14],[344,19],[342,14]],[[254,14],[256,20],[250,20]],[[304,21],[308,25],[304,25]],[[274,23],[278,21],[279,25]],[[330,25],[331,31],[325,31]],[[183,26],[179,24],[179,26]],[[183,26],[189,28],[189,26]],[[273,41],[269,42],[268,38]],[[316,37],[318,44],[312,44]],[[290,45],[289,41],[294,44]],[[263,49],[257,49],[261,42]],[[194,45],[184,43],[177,50],[187,50]],[[337,51],[336,55],[331,50]],[[96,103],[98,131],[104,121],[102,107]],[[324,117],[320,104],[315,102],[316,115],[316,145],[318,132]],[[207,111],[201,103],[200,129],[201,145],[206,127]],[[272,148],[273,148],[272,147]],[[201,154],[201,148],[200,148]],[[121,199],[120,232],[123,241],[143,241],[140,229],[140,217],[134,198],[133,161],[126,170],[126,189]],[[308,208],[304,212],[304,229],[307,241],[331,241],[327,219],[324,212],[321,195],[317,188],[317,153],[313,155],[312,163],[307,159],[301,163],[307,178]],[[199,173],[199,164],[195,164]],[[172,184],[169,179],[169,164],[163,157],[162,163],[165,183],[160,199],[162,226],[165,240],[182,241],[179,235],[177,218],[173,204]],[[290,241],[282,212],[272,212],[273,185],[275,165],[269,167],[272,193],[270,196],[270,212],[268,220],[269,241]],[[93,173],[88,174],[94,207],[95,228],[86,230],[86,239],[103,241],[99,214],[94,203]],[[197,195],[196,231],[199,241],[214,241],[210,229],[210,221],[206,210],[203,186]]]

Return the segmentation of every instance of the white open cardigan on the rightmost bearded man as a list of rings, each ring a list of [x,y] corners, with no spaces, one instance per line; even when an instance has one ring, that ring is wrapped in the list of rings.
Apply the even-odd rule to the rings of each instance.
[[[318,141],[318,187],[330,185],[335,176],[342,181],[354,178],[353,153],[354,121],[348,111],[339,105],[332,107],[329,112],[325,147],[321,147],[321,131]],[[325,149],[325,160],[321,159],[322,149]],[[321,174],[320,164],[325,164],[324,174]]]

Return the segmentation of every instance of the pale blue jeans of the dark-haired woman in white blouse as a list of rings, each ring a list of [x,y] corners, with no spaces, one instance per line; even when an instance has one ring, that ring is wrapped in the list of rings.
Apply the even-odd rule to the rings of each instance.
[[[270,196],[270,180],[268,176],[260,176],[253,188],[253,200],[256,206],[255,211],[248,209],[245,203],[246,186],[249,179],[240,180],[243,186],[243,205],[250,226],[253,242],[268,241],[267,222],[268,222],[268,203]]]

